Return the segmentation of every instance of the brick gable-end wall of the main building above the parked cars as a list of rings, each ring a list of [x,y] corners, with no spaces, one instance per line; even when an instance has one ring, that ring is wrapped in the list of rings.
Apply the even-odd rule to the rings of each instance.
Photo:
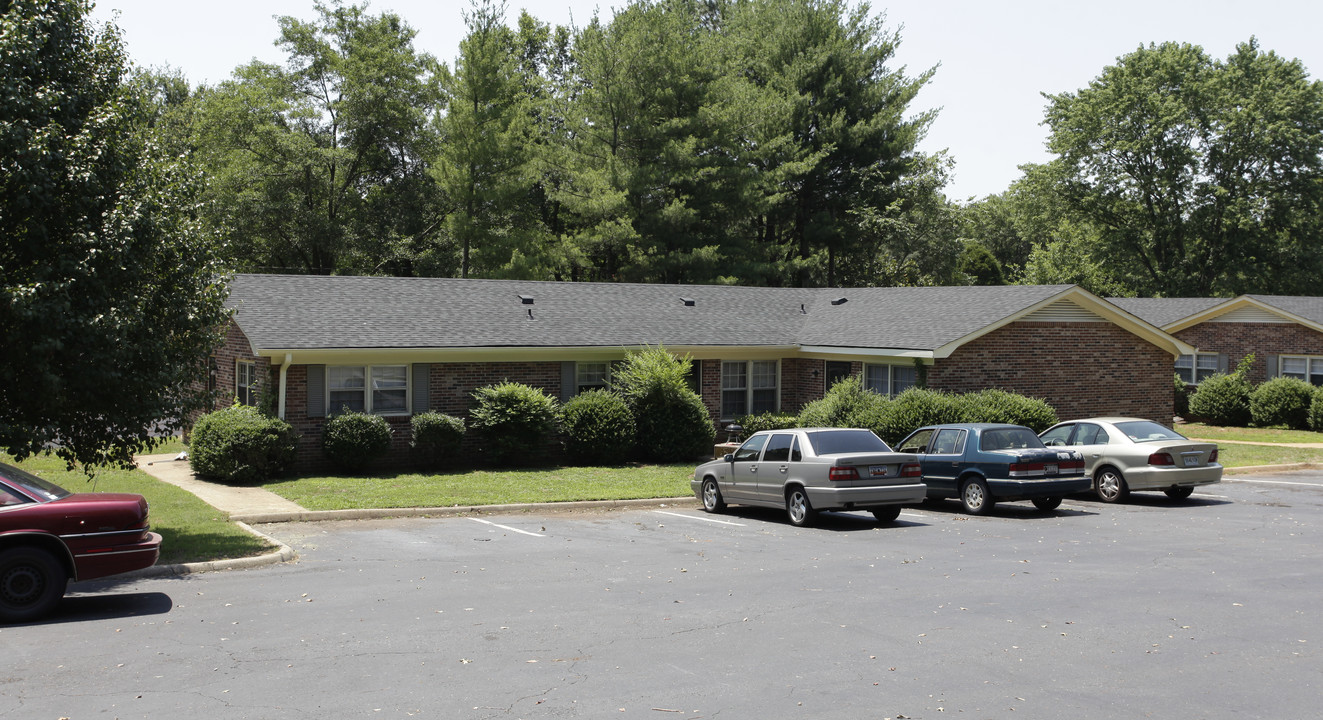
[[[1061,420],[1129,416],[1171,424],[1172,357],[1103,323],[1012,323],[927,372],[933,389],[1000,388],[1046,400]]]

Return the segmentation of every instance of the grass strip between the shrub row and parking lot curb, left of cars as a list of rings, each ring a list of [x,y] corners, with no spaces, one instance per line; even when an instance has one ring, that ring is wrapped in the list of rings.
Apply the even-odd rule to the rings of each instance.
[[[438,475],[296,478],[265,484],[308,510],[628,500],[691,495],[693,465],[470,470]]]

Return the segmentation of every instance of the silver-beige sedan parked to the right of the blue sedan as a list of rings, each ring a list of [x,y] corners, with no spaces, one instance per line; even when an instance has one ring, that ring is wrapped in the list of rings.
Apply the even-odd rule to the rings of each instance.
[[[1180,500],[1189,498],[1196,486],[1222,479],[1217,445],[1192,441],[1150,420],[1072,420],[1039,437],[1048,447],[1069,446],[1084,453],[1085,472],[1105,503],[1125,500],[1138,490],[1162,490]]]

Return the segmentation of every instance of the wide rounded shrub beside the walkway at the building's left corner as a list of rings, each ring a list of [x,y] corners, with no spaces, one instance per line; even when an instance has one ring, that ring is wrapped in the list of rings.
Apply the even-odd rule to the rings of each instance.
[[[198,418],[188,461],[198,475],[229,484],[253,484],[284,474],[295,458],[294,428],[257,408],[234,405]]]

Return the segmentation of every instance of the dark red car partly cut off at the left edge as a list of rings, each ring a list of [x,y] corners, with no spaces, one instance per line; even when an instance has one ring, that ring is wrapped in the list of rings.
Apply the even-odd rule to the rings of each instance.
[[[69,492],[0,463],[0,622],[38,618],[70,580],[156,564],[147,500],[126,492]]]

